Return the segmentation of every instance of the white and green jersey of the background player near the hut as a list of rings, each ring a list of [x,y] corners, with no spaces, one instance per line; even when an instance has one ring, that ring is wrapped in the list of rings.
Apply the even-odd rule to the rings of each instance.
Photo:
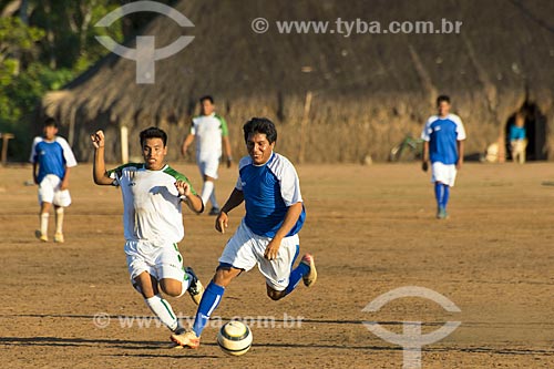
[[[222,137],[229,135],[227,122],[212,113],[193,117],[191,133],[196,137],[196,158],[209,160],[222,156]]]

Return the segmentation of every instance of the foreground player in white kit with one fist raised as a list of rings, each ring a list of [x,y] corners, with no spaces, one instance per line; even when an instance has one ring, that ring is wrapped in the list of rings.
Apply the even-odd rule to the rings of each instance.
[[[177,243],[184,236],[182,203],[202,213],[204,204],[188,180],[165,163],[167,135],[157,127],[141,132],[144,163],[105,170],[104,133],[91,135],[95,147],[93,178],[123,195],[125,254],[131,283],[146,305],[174,334],[183,332],[160,290],[179,297],[188,290],[198,304],[204,288],[192,268],[183,268]]]

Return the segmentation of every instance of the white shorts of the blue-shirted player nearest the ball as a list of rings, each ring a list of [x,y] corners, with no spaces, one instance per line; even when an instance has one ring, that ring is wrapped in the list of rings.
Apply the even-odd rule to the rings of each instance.
[[[300,249],[300,239],[298,235],[283,238],[275,260],[264,258],[270,240],[269,237],[254,234],[243,219],[237,232],[227,242],[219,263],[246,271],[257,264],[259,271],[266,277],[267,285],[275,290],[284,290],[288,286],[290,270]]]

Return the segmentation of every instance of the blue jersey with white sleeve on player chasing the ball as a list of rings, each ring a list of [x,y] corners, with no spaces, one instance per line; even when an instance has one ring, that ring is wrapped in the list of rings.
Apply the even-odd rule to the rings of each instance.
[[[244,195],[246,225],[258,236],[275,237],[288,207],[302,202],[295,167],[285,156],[271,153],[264,165],[255,165],[249,156],[243,157],[238,171],[236,188]],[[302,206],[302,213],[287,237],[300,232],[305,218]]]

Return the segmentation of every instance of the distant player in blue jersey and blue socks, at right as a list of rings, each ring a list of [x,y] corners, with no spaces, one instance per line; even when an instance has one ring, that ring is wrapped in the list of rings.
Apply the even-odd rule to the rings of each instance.
[[[460,116],[450,114],[450,98],[440,95],[437,99],[438,115],[429,117],[421,133],[424,141],[422,168],[427,172],[431,161],[439,219],[448,217],[450,187],[454,186],[456,172],[463,164],[465,130]]]

